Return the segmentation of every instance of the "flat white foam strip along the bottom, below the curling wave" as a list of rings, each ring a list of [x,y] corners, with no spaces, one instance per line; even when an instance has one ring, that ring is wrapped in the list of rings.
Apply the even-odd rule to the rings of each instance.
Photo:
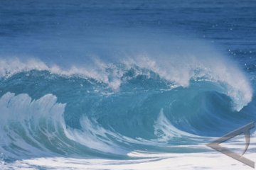
[[[255,154],[247,154],[255,161]],[[64,157],[43,157],[25,159],[4,164],[2,169],[87,169],[87,170],[155,170],[155,169],[252,169],[233,158],[218,153],[169,154],[165,158],[110,160],[110,159],[74,159]]]

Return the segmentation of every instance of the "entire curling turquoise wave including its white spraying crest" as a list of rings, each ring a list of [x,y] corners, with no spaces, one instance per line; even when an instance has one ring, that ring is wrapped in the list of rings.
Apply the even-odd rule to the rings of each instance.
[[[182,84],[174,69],[172,76],[149,58],[142,63],[101,63],[84,72],[2,60],[2,159],[206,152],[201,146],[211,137],[255,119],[242,109],[253,108],[252,90],[234,65],[221,74],[210,62],[208,69],[184,67],[190,75]]]

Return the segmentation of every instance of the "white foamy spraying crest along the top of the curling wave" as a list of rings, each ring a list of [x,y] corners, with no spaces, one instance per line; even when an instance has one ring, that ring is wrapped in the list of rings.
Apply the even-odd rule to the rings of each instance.
[[[153,60],[148,55],[129,58],[120,63],[105,63],[95,60],[93,66],[72,66],[69,69],[54,64],[52,66],[40,60],[0,60],[0,76],[10,77],[18,72],[30,70],[48,71],[60,76],[78,76],[95,79],[118,91],[125,81],[144,75],[149,78],[160,77],[173,84],[172,87],[188,87],[193,81],[213,81],[222,87],[223,93],[233,99],[233,108],[240,111],[252,100],[252,88],[247,77],[233,63],[225,62],[221,57],[195,57],[188,55],[176,57],[159,57]],[[131,77],[132,74],[132,77]],[[239,81],[238,81],[239,80]]]

